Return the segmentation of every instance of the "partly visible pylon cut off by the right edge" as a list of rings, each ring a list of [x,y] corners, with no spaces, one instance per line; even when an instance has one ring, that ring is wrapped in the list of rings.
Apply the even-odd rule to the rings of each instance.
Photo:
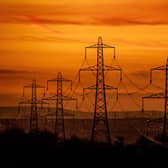
[[[144,112],[144,100],[145,99],[164,99],[165,100],[164,117],[163,117],[163,132],[162,132],[162,138],[164,140],[166,136],[167,114],[168,114],[168,57],[167,57],[166,65],[152,68],[150,70],[150,83],[152,83],[152,71],[165,71],[165,92],[142,97],[142,112]]]

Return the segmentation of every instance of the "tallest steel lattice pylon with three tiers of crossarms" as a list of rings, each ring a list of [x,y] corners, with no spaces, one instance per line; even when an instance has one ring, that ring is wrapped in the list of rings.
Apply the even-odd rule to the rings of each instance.
[[[99,141],[105,138],[105,141],[111,143],[110,128],[108,124],[107,116],[107,105],[106,105],[106,89],[117,89],[112,86],[105,85],[104,71],[119,71],[120,80],[122,80],[122,70],[121,68],[116,68],[112,66],[104,65],[103,58],[103,48],[114,49],[115,59],[115,47],[104,44],[102,37],[98,37],[97,44],[85,47],[85,60],[87,59],[86,51],[88,48],[97,48],[97,65],[89,66],[88,68],[83,68],[79,70],[79,81],[80,81],[80,71],[96,71],[96,85],[90,86],[85,89],[96,89],[95,94],[95,109],[94,109],[94,120],[91,134],[91,141],[94,142],[96,139]]]

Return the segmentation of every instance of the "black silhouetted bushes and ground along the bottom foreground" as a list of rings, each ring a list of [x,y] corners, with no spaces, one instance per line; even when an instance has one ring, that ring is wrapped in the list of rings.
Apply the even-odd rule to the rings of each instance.
[[[79,163],[79,167],[88,162],[115,164],[150,164],[156,166],[166,162],[168,150],[141,137],[136,143],[125,145],[118,137],[113,144],[92,144],[88,140],[71,138],[64,143],[56,136],[41,132],[25,134],[10,130],[0,134],[0,158],[6,161],[23,161],[24,164],[55,162],[62,164]],[[88,165],[89,166],[89,165]],[[24,167],[24,166],[23,166]],[[136,165],[135,165],[136,167]]]

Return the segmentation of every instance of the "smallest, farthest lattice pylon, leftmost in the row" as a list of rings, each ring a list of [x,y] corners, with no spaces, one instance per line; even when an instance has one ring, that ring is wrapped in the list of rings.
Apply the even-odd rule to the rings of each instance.
[[[31,100],[26,100],[19,102],[19,112],[20,112],[20,105],[24,104],[29,104],[31,105],[31,114],[30,114],[30,131],[32,132],[38,132],[38,113],[37,113],[37,105],[38,104],[48,104],[43,102],[42,100],[37,100],[37,89],[41,88],[44,89],[44,96],[45,96],[45,87],[37,85],[36,80],[32,81],[31,85],[27,85],[23,87],[23,96],[25,95],[25,88],[30,88],[32,89],[32,98]]]

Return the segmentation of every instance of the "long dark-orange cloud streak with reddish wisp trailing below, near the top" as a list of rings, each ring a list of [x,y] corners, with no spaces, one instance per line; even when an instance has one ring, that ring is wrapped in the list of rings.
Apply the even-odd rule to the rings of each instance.
[[[127,25],[167,25],[168,20],[164,17],[156,17],[156,16],[147,16],[146,18],[142,16],[142,18],[136,19],[134,17],[126,17],[126,16],[83,16],[82,20],[80,20],[80,16],[71,16],[71,18],[57,18],[58,16],[52,18],[46,18],[47,16],[33,16],[33,15],[24,15],[25,18],[21,18],[20,16],[4,16],[0,17],[1,23],[13,23],[13,24],[37,24],[41,28],[48,29],[55,33],[63,33],[59,30],[51,29],[48,24],[54,25],[109,25],[109,26],[127,26]],[[49,17],[49,16],[48,16]],[[165,17],[168,17],[165,16]]]

